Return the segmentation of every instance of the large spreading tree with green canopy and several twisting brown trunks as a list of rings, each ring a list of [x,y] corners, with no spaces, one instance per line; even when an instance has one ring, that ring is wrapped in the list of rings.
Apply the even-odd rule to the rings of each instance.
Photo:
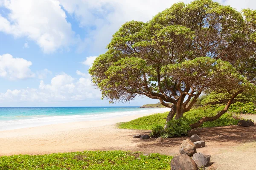
[[[89,73],[110,102],[138,95],[172,108],[166,122],[183,116],[206,90],[234,98],[254,86],[256,11],[238,12],[212,0],[176,3],[147,23],[127,22],[113,35],[108,51]],[[172,103],[173,105],[169,105]]]

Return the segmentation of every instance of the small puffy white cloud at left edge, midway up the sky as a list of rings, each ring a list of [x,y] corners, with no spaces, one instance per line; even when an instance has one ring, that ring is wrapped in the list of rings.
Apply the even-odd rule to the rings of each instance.
[[[31,65],[31,61],[13,58],[11,54],[0,55],[0,77],[10,80],[35,77],[29,68]]]

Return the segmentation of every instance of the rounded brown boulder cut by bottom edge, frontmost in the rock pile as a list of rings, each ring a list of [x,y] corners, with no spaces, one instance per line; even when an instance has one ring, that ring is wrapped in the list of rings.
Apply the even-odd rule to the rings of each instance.
[[[179,155],[172,159],[171,170],[198,170],[198,167],[189,156]]]

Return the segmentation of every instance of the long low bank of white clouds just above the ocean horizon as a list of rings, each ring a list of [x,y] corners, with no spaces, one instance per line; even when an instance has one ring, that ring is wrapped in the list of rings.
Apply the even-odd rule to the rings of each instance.
[[[37,89],[7,90],[0,93],[0,100],[6,102],[59,102],[101,99],[99,90],[94,89],[91,79],[74,79],[65,73],[56,75],[49,84],[43,80]]]

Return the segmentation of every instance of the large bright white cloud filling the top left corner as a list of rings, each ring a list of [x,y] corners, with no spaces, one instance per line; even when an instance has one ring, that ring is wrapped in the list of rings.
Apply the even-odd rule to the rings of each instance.
[[[0,31],[28,37],[45,53],[73,43],[71,24],[58,0],[2,0],[0,6],[10,11],[7,17],[0,15]]]

